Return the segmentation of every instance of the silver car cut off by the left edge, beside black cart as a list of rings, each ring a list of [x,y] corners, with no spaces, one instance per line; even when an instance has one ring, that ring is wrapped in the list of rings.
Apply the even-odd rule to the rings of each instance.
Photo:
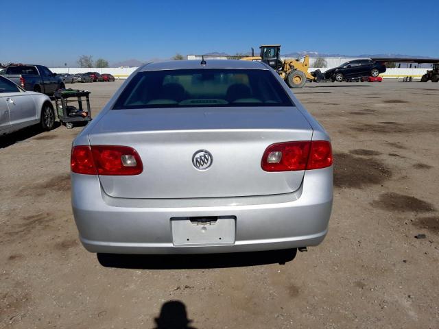
[[[36,124],[43,130],[54,128],[55,112],[49,96],[25,91],[0,75],[0,135]]]

